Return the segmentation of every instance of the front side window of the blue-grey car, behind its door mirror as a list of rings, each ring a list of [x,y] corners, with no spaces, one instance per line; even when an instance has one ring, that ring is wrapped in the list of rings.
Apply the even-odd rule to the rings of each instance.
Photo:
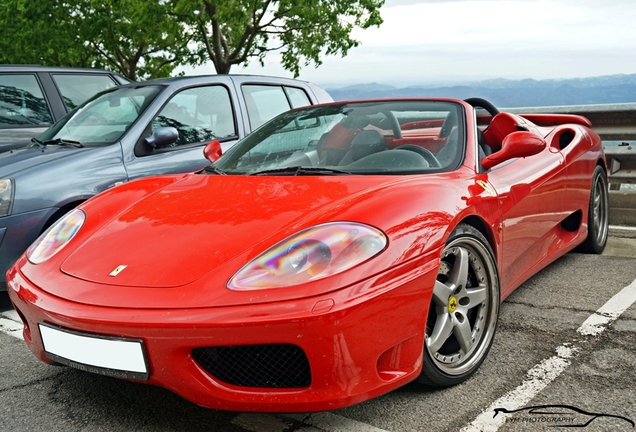
[[[236,122],[230,94],[222,85],[194,87],[175,94],[159,111],[152,129],[171,126],[179,137],[173,144],[158,148],[234,138]]]

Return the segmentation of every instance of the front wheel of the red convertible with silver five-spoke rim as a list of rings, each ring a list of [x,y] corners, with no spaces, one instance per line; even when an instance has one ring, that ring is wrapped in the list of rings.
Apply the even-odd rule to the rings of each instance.
[[[482,364],[499,318],[499,276],[486,238],[460,224],[448,238],[426,321],[424,365],[416,382],[449,387]]]

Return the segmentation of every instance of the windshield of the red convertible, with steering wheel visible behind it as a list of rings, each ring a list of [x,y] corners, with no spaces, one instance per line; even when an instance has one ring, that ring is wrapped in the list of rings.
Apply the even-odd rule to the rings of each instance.
[[[370,101],[301,108],[279,115],[236,144],[214,164],[214,172],[450,171],[463,157],[463,118],[461,105],[443,101]]]

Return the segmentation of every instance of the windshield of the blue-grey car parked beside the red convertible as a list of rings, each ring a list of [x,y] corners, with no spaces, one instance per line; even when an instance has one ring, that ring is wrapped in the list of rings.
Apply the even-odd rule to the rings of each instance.
[[[118,141],[161,90],[160,86],[120,87],[101,93],[51,126],[39,142],[91,145]]]

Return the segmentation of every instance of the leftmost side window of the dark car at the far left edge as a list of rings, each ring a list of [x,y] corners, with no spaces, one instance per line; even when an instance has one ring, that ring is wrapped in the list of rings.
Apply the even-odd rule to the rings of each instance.
[[[0,127],[53,123],[35,75],[0,75]]]

